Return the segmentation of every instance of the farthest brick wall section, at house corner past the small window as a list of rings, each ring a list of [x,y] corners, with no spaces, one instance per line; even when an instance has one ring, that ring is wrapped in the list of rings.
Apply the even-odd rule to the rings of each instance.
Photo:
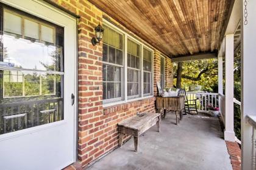
[[[173,65],[169,57],[165,57],[165,87],[173,87]]]

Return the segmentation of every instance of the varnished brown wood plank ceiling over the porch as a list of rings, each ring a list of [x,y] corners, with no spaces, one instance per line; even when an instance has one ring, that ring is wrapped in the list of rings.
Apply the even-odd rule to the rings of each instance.
[[[168,55],[215,52],[231,0],[89,0]]]

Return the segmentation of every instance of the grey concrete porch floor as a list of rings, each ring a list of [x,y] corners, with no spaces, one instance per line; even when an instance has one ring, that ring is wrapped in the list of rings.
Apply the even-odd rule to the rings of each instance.
[[[132,138],[89,169],[232,169],[218,118],[185,115],[175,122],[167,113],[160,133],[154,126],[140,136],[137,153]]]

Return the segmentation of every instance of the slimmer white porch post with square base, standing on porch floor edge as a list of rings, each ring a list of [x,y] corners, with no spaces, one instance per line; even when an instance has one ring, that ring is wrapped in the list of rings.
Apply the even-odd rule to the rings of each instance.
[[[234,35],[228,34],[225,37],[225,132],[224,139],[226,141],[235,141],[234,132],[234,109],[233,109],[233,68],[234,68]]]

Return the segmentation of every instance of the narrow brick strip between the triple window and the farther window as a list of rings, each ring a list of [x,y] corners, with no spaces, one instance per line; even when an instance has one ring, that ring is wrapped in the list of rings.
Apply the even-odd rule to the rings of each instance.
[[[157,96],[157,82],[160,82],[160,51],[154,51],[154,96]]]

